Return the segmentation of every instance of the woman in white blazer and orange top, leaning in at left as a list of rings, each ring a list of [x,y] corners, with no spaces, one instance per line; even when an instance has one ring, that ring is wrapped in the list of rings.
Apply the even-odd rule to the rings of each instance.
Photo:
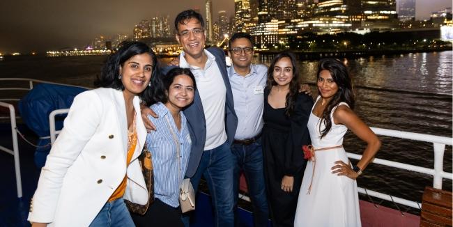
[[[148,201],[137,160],[146,129],[135,116],[156,64],[148,45],[123,42],[95,81],[100,88],[75,97],[31,200],[33,226],[134,226],[123,198]]]

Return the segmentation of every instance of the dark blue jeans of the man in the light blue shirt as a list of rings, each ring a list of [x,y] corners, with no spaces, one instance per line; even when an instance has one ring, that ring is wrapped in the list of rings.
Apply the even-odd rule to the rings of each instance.
[[[247,189],[252,201],[254,226],[268,226],[269,210],[264,185],[263,149],[261,139],[249,145],[231,145],[234,162],[234,207],[238,205],[240,171],[244,171]],[[236,218],[237,219],[237,218]]]

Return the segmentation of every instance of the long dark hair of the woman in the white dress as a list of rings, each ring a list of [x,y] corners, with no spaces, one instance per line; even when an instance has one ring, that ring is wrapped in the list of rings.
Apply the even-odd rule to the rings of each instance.
[[[327,104],[327,107],[325,107],[321,116],[320,120],[325,124],[325,129],[321,131],[321,139],[332,128],[332,118],[330,118],[332,109],[337,107],[340,102],[346,102],[349,107],[353,109],[355,102],[353,84],[346,65],[341,63],[341,61],[339,61],[338,59],[324,58],[319,61],[318,74],[316,79],[319,79],[319,74],[322,70],[328,70],[330,72],[333,81],[335,81],[335,84],[337,84],[338,86],[338,91]]]

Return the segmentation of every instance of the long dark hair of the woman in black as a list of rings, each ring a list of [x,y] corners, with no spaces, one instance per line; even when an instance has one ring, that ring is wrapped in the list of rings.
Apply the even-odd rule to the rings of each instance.
[[[273,59],[272,63],[270,63],[270,66],[268,68],[268,81],[267,81],[267,86],[269,89],[272,88],[272,86],[277,85],[277,82],[275,82],[273,74],[274,74],[274,67],[275,64],[280,61],[282,58],[289,58],[291,60],[291,64],[293,65],[293,79],[289,82],[289,93],[286,94],[286,103],[285,103],[285,116],[291,116],[294,111],[295,107],[295,100],[298,98],[298,93],[299,93],[299,70],[297,68],[297,63],[295,61],[295,55],[292,52],[289,51],[284,51],[280,52],[277,54]]]

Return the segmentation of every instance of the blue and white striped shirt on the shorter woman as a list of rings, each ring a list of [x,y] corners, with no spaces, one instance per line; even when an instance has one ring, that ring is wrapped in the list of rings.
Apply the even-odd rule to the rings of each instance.
[[[157,131],[152,131],[146,136],[148,150],[151,152],[153,159],[154,171],[154,196],[160,201],[177,208],[179,206],[179,185],[181,184],[187,162],[190,156],[190,140],[189,130],[187,128],[187,120],[181,111],[181,132],[176,127],[170,111],[162,102],[158,102],[151,106],[151,109],[158,114],[159,118],[149,117],[151,122],[157,128]],[[173,135],[169,130],[169,123],[173,132],[180,143],[181,147],[181,173],[178,173],[179,159],[176,155],[176,144]]]

